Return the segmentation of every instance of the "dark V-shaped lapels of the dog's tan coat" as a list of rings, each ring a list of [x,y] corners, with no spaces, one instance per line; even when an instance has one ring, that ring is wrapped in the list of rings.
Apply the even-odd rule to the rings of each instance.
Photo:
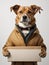
[[[36,28],[36,24],[30,30],[30,32],[27,34],[26,37],[24,36],[24,34],[22,33],[21,29],[18,26],[16,26],[16,31],[22,35],[26,45],[27,45],[27,42],[28,42],[29,38],[31,37],[31,35],[34,35],[35,33],[39,33],[38,29]]]

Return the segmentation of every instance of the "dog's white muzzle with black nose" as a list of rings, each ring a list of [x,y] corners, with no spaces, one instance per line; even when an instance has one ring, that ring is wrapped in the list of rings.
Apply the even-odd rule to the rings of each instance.
[[[18,23],[18,25],[20,27],[26,28],[26,27],[30,27],[31,25],[29,24],[30,19],[27,15],[23,15],[20,19],[20,22]]]

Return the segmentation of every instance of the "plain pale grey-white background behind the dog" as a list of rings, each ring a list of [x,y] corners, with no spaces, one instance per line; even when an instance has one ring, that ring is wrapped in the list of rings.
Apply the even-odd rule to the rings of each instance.
[[[10,33],[15,27],[15,14],[10,12],[10,7],[15,5],[32,5],[36,4],[43,8],[41,14],[37,13],[36,23],[40,30],[40,34],[47,46],[47,56],[39,62],[38,65],[49,65],[49,0],[0,0],[0,65],[10,65],[2,55],[2,47],[6,43]]]

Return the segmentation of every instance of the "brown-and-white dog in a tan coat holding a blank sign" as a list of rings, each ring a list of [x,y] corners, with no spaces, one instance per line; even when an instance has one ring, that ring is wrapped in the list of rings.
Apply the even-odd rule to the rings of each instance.
[[[16,14],[15,28],[10,34],[6,44],[3,47],[3,55],[10,56],[7,49],[9,46],[41,46],[40,57],[46,57],[46,45],[36,26],[35,14],[40,13],[41,7],[37,5],[20,6],[14,5],[10,8]],[[12,62],[11,65],[37,65],[37,62]]]

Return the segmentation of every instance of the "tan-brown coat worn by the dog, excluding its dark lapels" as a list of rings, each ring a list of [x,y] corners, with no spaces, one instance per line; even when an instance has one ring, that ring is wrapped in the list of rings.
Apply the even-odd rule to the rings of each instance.
[[[3,47],[3,55],[7,54],[6,47],[8,46],[26,46],[22,35],[20,34],[19,30],[15,28],[11,35],[9,36],[6,44]],[[39,34],[38,29],[34,31],[27,42],[27,46],[41,46],[42,49],[46,50],[46,46],[43,43],[43,39]],[[12,65],[37,65],[37,62],[12,62]]]

